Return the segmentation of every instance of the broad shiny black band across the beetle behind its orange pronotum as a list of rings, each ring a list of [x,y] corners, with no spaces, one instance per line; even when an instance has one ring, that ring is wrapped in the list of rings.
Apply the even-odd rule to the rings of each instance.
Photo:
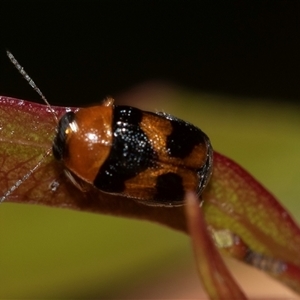
[[[155,166],[157,154],[140,128],[143,112],[129,106],[115,106],[113,145],[101,166],[94,185],[102,191],[121,193],[125,181]]]

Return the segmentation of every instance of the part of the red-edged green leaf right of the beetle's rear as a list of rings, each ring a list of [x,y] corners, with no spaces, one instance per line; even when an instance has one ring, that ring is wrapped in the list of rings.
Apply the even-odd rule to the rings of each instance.
[[[231,235],[232,244],[224,246],[230,255],[300,292],[300,229],[273,195],[235,162],[215,153],[203,199],[213,235],[218,238],[223,229]]]

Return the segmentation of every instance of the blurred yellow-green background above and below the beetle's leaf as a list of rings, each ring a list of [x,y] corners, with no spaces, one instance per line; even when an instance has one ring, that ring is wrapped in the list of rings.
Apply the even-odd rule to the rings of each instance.
[[[197,125],[300,220],[300,107],[250,100],[151,83],[117,102]],[[156,224],[5,203],[0,244],[0,299],[148,299],[155,289],[155,297],[167,289],[180,298],[172,290],[188,295],[191,286],[202,295],[188,237]]]

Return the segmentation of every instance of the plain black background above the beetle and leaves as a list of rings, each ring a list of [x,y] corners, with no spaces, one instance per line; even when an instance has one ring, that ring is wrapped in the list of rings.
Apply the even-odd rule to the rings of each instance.
[[[4,1],[0,95],[82,105],[149,80],[299,101],[299,1]]]

